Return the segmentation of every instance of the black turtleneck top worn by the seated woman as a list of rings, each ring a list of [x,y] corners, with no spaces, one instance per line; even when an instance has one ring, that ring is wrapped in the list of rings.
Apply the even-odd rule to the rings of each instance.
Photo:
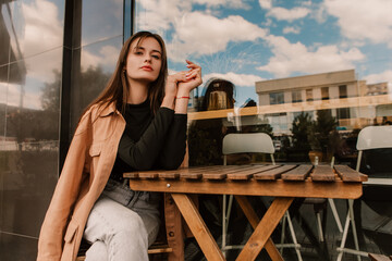
[[[124,172],[177,169],[185,154],[186,114],[161,107],[154,115],[149,100],[126,104],[126,127],[110,178],[123,179]]]

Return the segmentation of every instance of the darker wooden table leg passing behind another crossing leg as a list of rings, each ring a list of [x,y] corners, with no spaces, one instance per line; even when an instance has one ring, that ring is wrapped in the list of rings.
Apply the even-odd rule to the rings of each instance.
[[[238,202],[241,209],[243,210],[245,216],[249,221],[252,227],[254,229],[256,229],[260,219],[256,214],[255,210],[253,209],[252,204],[247,200],[246,196],[234,196],[234,197],[235,197],[235,200]],[[283,261],[281,253],[274,246],[271,238],[268,238],[265,248],[272,261]]]

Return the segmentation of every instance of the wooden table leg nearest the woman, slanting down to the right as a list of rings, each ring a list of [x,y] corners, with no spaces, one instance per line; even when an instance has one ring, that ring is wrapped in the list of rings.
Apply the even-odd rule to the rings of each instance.
[[[172,194],[172,197],[207,260],[225,260],[191,198],[184,194]]]

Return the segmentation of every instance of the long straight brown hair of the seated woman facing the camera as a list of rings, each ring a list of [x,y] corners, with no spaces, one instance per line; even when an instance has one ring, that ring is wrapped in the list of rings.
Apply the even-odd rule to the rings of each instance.
[[[163,96],[164,96],[164,84],[166,78],[168,75],[168,59],[167,59],[167,51],[166,46],[162,37],[160,37],[157,34],[152,34],[150,32],[138,32],[131,36],[123,45],[118,63],[115,65],[114,73],[112,74],[111,78],[109,79],[106,88],[102,90],[102,92],[98,96],[97,99],[95,99],[85,110],[85,112],[94,104],[100,105],[109,105],[110,103],[114,103],[115,108],[120,110],[122,113],[125,111],[126,101],[130,96],[130,88],[128,83],[126,80],[126,59],[130,52],[131,45],[137,40],[136,46],[138,47],[139,44],[148,38],[152,37],[156,39],[161,49],[161,69],[158,75],[158,78],[152,82],[148,87],[148,98],[150,100],[150,108],[154,113],[156,113],[162,102]]]

